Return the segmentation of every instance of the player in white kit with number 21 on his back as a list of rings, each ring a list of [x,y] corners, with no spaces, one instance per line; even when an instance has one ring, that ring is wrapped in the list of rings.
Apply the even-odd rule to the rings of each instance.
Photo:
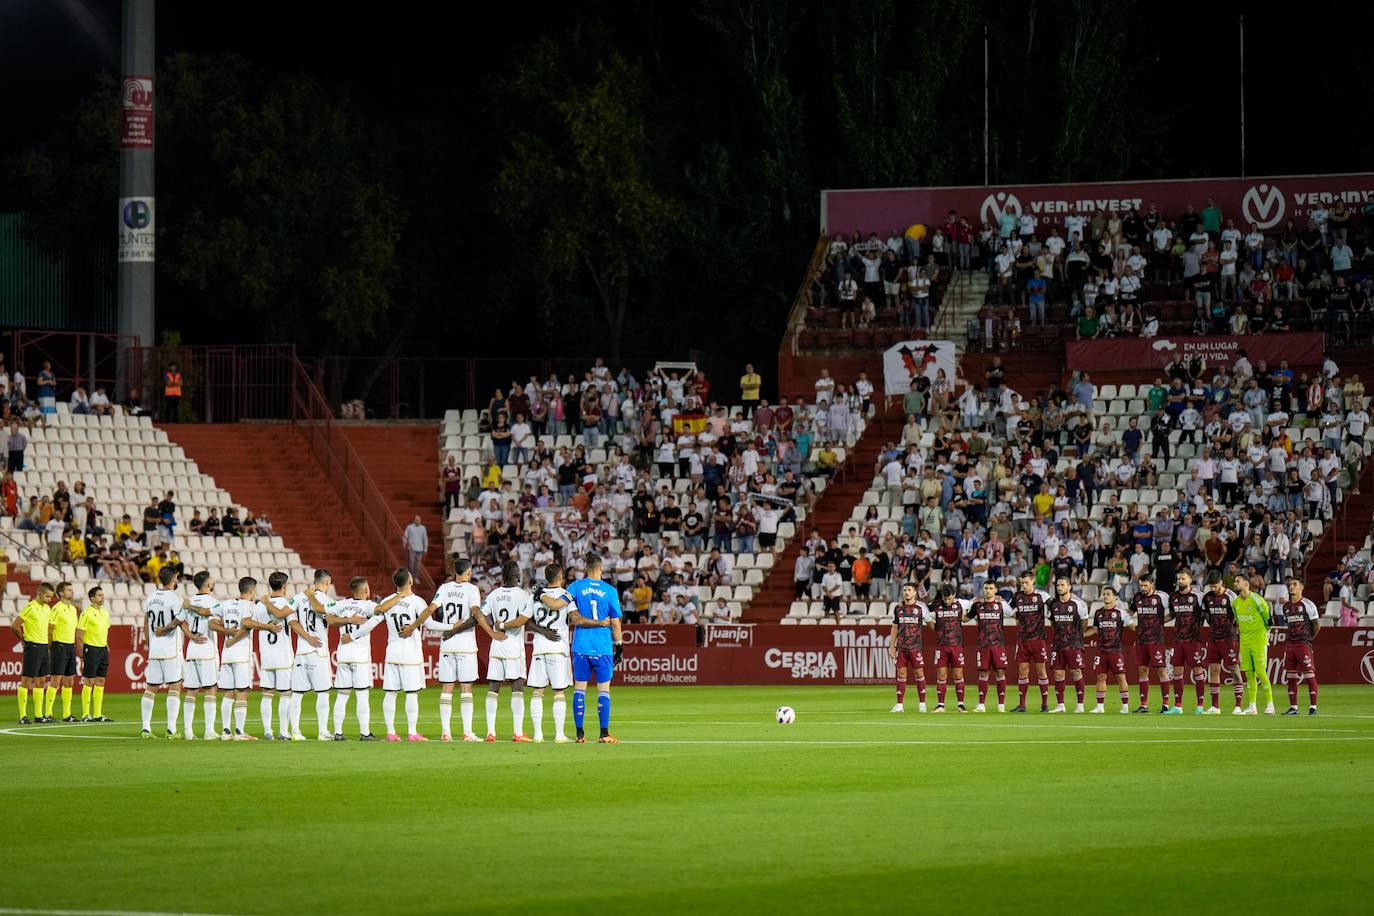
[[[477,628],[488,636],[495,633],[481,612],[482,596],[473,584],[473,563],[453,559],[453,581],[444,582],[434,592],[425,629],[438,630],[444,641],[438,647],[438,721],[440,740],[453,740],[449,729],[453,721],[453,684],[462,685],[463,740],[475,742],[473,733],[473,681],[477,680]]]

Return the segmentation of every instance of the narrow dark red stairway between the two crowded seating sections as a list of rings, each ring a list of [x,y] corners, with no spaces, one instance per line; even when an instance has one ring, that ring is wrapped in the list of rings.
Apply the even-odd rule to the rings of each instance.
[[[833,537],[835,531],[842,530],[855,505],[872,485],[872,468],[878,460],[878,452],[882,450],[885,442],[901,437],[901,426],[900,401],[896,401],[886,412],[874,415],[845,461],[842,479],[837,479],[826,488],[826,492],[816,500],[815,509],[802,525],[797,526],[797,537],[791,538],[787,549],[778,556],[768,578],[754,593],[754,600],[745,608],[745,622],[776,623],[786,617],[794,595],[793,570],[811,529],[818,529],[826,537]]]

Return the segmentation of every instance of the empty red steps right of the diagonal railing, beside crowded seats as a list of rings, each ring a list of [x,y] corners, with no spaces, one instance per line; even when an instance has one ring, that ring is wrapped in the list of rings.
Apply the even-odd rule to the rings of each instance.
[[[440,514],[440,463],[434,444],[437,423],[368,423],[342,426],[367,472],[392,507],[401,526],[416,515],[430,536],[425,569],[434,581],[444,578],[444,519]]]

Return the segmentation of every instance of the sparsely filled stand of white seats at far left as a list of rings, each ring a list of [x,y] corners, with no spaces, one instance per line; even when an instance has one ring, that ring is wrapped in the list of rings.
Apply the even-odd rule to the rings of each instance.
[[[240,575],[262,578],[280,569],[294,580],[308,574],[300,555],[271,533],[265,518],[251,511],[202,474],[195,461],[153,426],[148,416],[114,408],[107,416],[70,413],[59,401],[41,416],[27,438],[25,467],[10,477],[15,514],[0,514],[0,542],[25,582],[62,580],[84,595],[93,585],[107,589],[111,619],[142,619],[142,600],[161,564],[195,571],[206,569],[220,582]],[[170,549],[158,504],[174,503]],[[125,520],[125,516],[128,519]],[[225,523],[225,519],[228,522]],[[126,523],[129,529],[120,531]],[[258,533],[258,525],[264,533]],[[201,533],[194,533],[195,530]],[[218,534],[210,533],[218,531]],[[18,578],[5,584],[0,617],[12,618],[26,597]]]

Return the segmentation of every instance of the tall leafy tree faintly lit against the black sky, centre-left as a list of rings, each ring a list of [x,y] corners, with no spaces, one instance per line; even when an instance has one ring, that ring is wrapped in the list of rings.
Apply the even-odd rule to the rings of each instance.
[[[621,358],[631,299],[666,257],[683,220],[655,163],[640,65],[595,27],[539,40],[500,96],[518,117],[496,177],[496,207],[523,238],[544,290],[544,321],[574,305],[581,277],[606,321],[607,356]]]

